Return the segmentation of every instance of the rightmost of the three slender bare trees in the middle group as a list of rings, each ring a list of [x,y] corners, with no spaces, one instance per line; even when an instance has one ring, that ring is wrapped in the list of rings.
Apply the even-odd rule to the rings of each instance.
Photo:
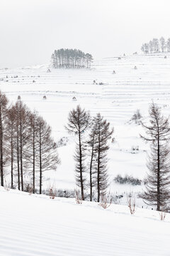
[[[110,130],[110,123],[104,120],[100,113],[94,119],[96,126],[96,188],[98,193],[97,201],[100,202],[101,195],[106,194],[106,188],[108,187],[108,139],[111,139],[113,129]]]

